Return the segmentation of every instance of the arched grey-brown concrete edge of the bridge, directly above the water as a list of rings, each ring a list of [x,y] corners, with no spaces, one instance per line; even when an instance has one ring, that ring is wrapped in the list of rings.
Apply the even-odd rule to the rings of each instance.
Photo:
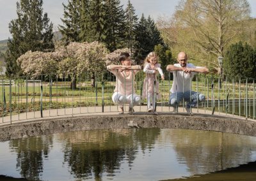
[[[132,125],[132,126],[131,126]],[[256,136],[256,122],[204,115],[104,115],[31,120],[0,126],[0,141],[92,129],[195,129]]]

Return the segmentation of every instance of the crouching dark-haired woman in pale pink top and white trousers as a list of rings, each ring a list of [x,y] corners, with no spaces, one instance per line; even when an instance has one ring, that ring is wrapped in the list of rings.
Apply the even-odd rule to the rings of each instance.
[[[107,66],[107,69],[116,76],[116,87],[112,100],[119,106],[119,113],[124,113],[124,104],[126,103],[129,104],[129,113],[133,113],[132,107],[140,103],[140,96],[135,94],[134,80],[141,67],[131,65],[128,53],[121,53],[119,61],[121,65]]]

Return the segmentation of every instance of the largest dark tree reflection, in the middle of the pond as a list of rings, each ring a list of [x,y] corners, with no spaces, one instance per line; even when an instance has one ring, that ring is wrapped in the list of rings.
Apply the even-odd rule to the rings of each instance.
[[[138,152],[152,149],[160,129],[120,129],[79,131],[59,134],[67,141],[64,161],[77,178],[101,180],[102,173],[114,176],[123,160],[132,166]]]

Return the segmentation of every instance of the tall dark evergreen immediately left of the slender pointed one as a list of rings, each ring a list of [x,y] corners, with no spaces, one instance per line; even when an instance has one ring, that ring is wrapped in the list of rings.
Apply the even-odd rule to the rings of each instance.
[[[105,14],[105,40],[106,47],[113,52],[124,48],[125,44],[125,14],[119,0],[104,0]]]

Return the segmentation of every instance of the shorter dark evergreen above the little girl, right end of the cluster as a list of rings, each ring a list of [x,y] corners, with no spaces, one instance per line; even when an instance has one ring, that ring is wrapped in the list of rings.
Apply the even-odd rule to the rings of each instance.
[[[145,59],[149,52],[154,51],[156,45],[164,45],[156,24],[150,17],[146,19],[144,15],[142,15],[135,32],[136,43],[134,44],[134,58],[137,63]]]

